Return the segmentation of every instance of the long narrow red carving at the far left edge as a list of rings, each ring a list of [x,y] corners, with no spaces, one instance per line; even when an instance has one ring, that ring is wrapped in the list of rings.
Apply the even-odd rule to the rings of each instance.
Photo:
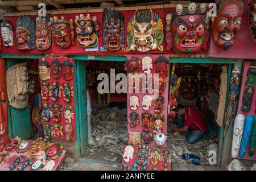
[[[8,134],[8,102],[5,60],[0,58],[0,137]]]

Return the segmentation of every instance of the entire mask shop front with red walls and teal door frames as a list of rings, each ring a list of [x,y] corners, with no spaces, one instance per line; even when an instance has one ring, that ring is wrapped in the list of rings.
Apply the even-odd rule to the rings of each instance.
[[[3,15],[0,170],[256,160],[256,2],[216,3],[214,18],[203,1]],[[181,106],[205,121],[197,144],[170,130]]]

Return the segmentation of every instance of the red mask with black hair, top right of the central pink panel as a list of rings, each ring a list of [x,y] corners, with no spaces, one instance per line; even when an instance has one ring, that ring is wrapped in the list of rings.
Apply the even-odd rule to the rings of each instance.
[[[165,78],[169,75],[169,60],[160,56],[155,60],[155,73],[158,73],[159,78]]]

